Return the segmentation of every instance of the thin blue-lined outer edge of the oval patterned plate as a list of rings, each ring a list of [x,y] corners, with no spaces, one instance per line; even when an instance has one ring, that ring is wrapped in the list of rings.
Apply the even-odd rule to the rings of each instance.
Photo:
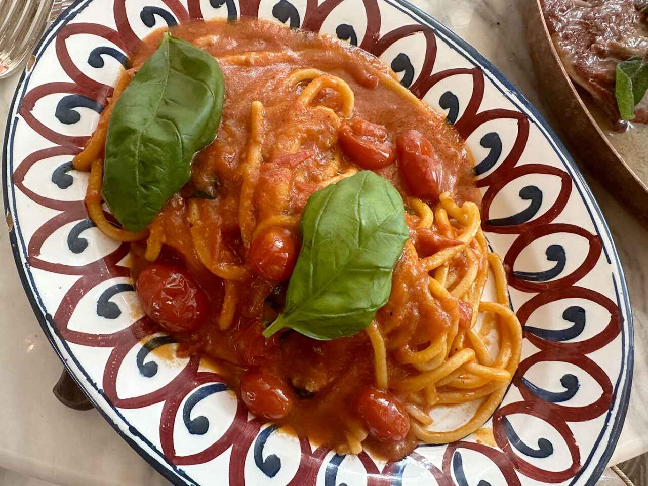
[[[64,27],[69,21],[71,21],[71,19],[73,19],[78,13],[82,12],[82,10],[84,10],[84,8],[86,8],[86,6],[93,1],[95,0],[75,0],[71,5],[65,8],[65,10],[58,17],[56,17],[49,28],[45,31],[43,36],[41,36],[38,44],[34,48],[34,64],[38,62],[40,56],[43,54],[44,49],[46,49],[49,43],[54,39],[52,33],[56,34],[58,30]],[[467,60],[469,60],[473,64],[483,68],[483,74],[490,78],[491,82],[493,80],[497,81],[492,82],[492,85],[496,87],[496,89],[498,89],[498,91],[500,91],[502,95],[515,106],[515,108],[529,116],[529,121],[537,125],[542,135],[544,135],[546,141],[551,145],[551,148],[553,149],[555,154],[557,154],[559,159],[561,159],[570,177],[575,182],[575,187],[579,192],[579,195],[581,196],[581,200],[583,200],[584,206],[590,214],[594,229],[596,229],[599,235],[605,235],[605,237],[607,237],[608,241],[610,242],[608,246],[603,244],[603,251],[605,251],[605,253],[609,252],[609,255],[607,255],[608,259],[610,260],[611,264],[614,264],[614,270],[616,270],[616,273],[619,277],[619,286],[621,287],[621,294],[623,294],[623,298],[619,297],[618,289],[616,289],[616,297],[619,308],[621,308],[621,303],[623,303],[622,316],[624,317],[619,332],[621,336],[621,362],[619,376],[616,380],[616,383],[614,384],[614,389],[612,391],[613,395],[616,397],[616,400],[612,402],[612,404],[610,404],[610,408],[608,408],[607,410],[604,426],[601,429],[601,432],[599,433],[596,441],[594,442],[592,451],[590,452],[589,456],[586,457],[586,459],[583,461],[579,472],[577,472],[577,474],[573,476],[573,478],[570,478],[569,483],[570,486],[576,483],[581,478],[581,475],[586,471],[586,469],[588,469],[592,456],[594,456],[596,452],[599,452],[601,440],[609,430],[610,437],[608,439],[607,446],[605,447],[605,450],[603,450],[603,454],[601,454],[597,465],[594,467],[594,469],[592,469],[590,477],[587,478],[586,482],[584,483],[586,486],[594,486],[596,484],[596,481],[603,473],[605,467],[607,467],[607,463],[612,456],[614,449],[616,448],[616,444],[618,443],[619,435],[621,434],[621,428],[623,427],[623,423],[625,422],[625,417],[627,415],[629,406],[629,399],[632,388],[632,375],[634,371],[634,323],[632,320],[632,308],[625,274],[623,272],[623,267],[621,266],[621,261],[619,259],[618,251],[616,249],[616,244],[614,243],[612,233],[610,233],[608,224],[603,216],[599,204],[596,201],[596,198],[594,198],[594,194],[592,194],[592,191],[588,183],[584,179],[581,170],[573,160],[564,144],[561,142],[553,128],[551,128],[550,124],[548,124],[544,117],[542,117],[537,108],[535,108],[535,106],[533,106],[533,104],[531,104],[531,102],[529,102],[529,100],[524,97],[524,95],[500,72],[500,70],[495,67],[489,60],[487,60],[487,58],[485,58],[483,54],[477,51],[477,49],[472,47],[472,45],[470,45],[467,41],[463,40],[463,38],[458,36],[452,30],[448,29],[448,27],[443,25],[443,23],[432,17],[430,14],[427,14],[426,12],[421,10],[421,8],[412,5],[407,0],[383,1],[397,8],[403,14],[411,17],[413,21],[434,29],[435,33],[445,37],[445,39],[449,41],[448,46],[451,49],[456,51],[464,58],[467,58]],[[463,49],[463,52],[461,51],[461,49],[457,49],[457,47]],[[124,417],[124,415],[122,415],[122,413],[119,412],[119,410],[117,410],[117,408],[108,401],[103,391],[97,387],[97,384],[93,382],[84,367],[82,367],[82,365],[78,362],[76,356],[71,353],[67,341],[60,338],[62,345],[60,346],[58,345],[58,343],[56,343],[56,338],[58,336],[55,336],[55,334],[52,333],[52,331],[48,327],[51,326],[52,329],[54,329],[52,316],[47,313],[47,308],[41,300],[41,295],[38,292],[38,288],[36,288],[36,283],[34,282],[32,272],[28,268],[29,264],[23,265],[23,262],[21,260],[21,249],[22,251],[24,251],[25,255],[27,255],[27,249],[22,235],[20,237],[20,241],[17,235],[17,233],[20,232],[20,229],[17,218],[14,219],[14,214],[16,214],[16,198],[8,169],[14,167],[13,153],[10,153],[10,146],[13,147],[14,143],[14,135],[16,131],[13,130],[13,128],[17,117],[12,118],[12,115],[14,114],[14,108],[16,106],[18,98],[22,100],[22,98],[24,97],[25,93],[21,93],[21,91],[24,91],[25,86],[27,86],[31,74],[31,71],[25,69],[23,73],[21,73],[21,76],[17,83],[16,91],[14,92],[14,96],[12,97],[12,102],[7,114],[5,135],[3,137],[4,146],[2,154],[2,191],[3,203],[5,205],[5,216],[7,218],[8,226],[10,227],[8,233],[12,247],[12,254],[14,257],[14,262],[16,263],[17,272],[21,281],[21,285],[23,286],[23,290],[27,295],[29,303],[32,307],[32,310],[34,311],[34,315],[36,316],[41,329],[47,337],[47,340],[50,342],[52,348],[56,352],[58,358],[61,360],[65,369],[73,377],[76,384],[78,384],[78,386],[84,390],[84,393],[86,393],[88,399],[91,401],[100,415],[102,415],[102,417],[106,420],[106,422],[110,424],[110,426],[117,432],[117,434],[119,434],[122,439],[124,439],[124,441],[126,441],[126,443],[128,443],[128,445],[130,445],[133,450],[137,452],[137,454],[139,454],[139,456],[145,459],[145,461],[149,465],[156,469],[157,472],[159,472],[171,483],[174,483],[176,485],[186,485],[187,481],[190,481],[192,484],[196,484],[196,482],[192,480],[192,478],[187,474],[185,474],[185,472],[183,472],[181,468],[168,463],[163,455],[163,452],[161,452],[161,450],[158,450],[155,445],[150,443],[145,435],[141,434],[141,432],[133,428],[126,417]],[[505,87],[506,91],[504,91],[502,87],[498,85],[498,83]],[[12,186],[11,191],[9,190],[10,186]],[[595,215],[596,218],[594,217]],[[9,218],[11,218],[11,220]],[[599,220],[598,222],[597,219]],[[614,272],[612,273],[612,277],[614,285],[616,287]],[[627,330],[625,328],[626,325]],[[625,354],[626,340],[627,355]],[[74,362],[74,365],[83,375],[83,378],[81,376],[78,376],[75,369],[73,369],[71,362],[69,362],[69,360],[64,356],[64,349],[62,348],[64,348],[65,352],[69,354],[71,360]],[[619,383],[624,377],[625,383],[623,384],[623,388],[620,389],[619,395]],[[101,405],[99,401],[95,399],[95,396],[93,396],[94,393],[97,393],[102,397],[102,399],[104,399],[104,405]],[[610,414],[615,410],[617,406],[618,411],[616,413],[616,417],[614,417],[614,422],[610,426]],[[143,441],[152,450],[155,450],[159,457],[156,457],[145,450],[143,446],[139,445],[135,440],[133,440],[132,437],[126,434],[124,430],[120,428],[120,424],[117,421],[113,420],[108,415],[106,410],[104,410],[105,407],[110,408],[110,410],[113,411],[113,413],[115,413],[119,417],[119,419],[121,419],[124,426],[128,427],[130,434],[139,438],[139,440]]]

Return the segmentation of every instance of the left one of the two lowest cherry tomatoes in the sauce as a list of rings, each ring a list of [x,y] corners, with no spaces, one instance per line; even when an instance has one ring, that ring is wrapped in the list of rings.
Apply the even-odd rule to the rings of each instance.
[[[284,380],[262,371],[248,371],[241,377],[241,399],[249,411],[270,420],[288,415],[295,403],[295,395]]]

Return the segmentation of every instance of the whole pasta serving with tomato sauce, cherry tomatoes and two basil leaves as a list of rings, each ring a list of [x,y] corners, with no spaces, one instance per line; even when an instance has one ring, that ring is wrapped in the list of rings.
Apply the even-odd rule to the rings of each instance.
[[[371,54],[270,21],[158,30],[130,60],[74,167],[178,353],[338,454],[487,421],[522,330],[443,115]]]

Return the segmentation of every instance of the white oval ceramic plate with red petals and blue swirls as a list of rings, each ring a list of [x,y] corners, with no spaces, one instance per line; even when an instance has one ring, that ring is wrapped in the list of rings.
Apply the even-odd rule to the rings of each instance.
[[[239,16],[337,34],[373,52],[467,140],[483,227],[525,325],[515,380],[478,433],[393,463],[338,456],[251,417],[216,373],[198,358],[173,358],[173,340],[139,320],[128,246],[87,218],[87,176],[71,170],[71,157],[139,39],[165,23]],[[478,52],[411,5],[76,1],[43,37],[9,116],[3,189],[25,292],[97,410],[172,482],[591,485],[607,464],[632,378],[631,313],[610,233],[538,113]]]

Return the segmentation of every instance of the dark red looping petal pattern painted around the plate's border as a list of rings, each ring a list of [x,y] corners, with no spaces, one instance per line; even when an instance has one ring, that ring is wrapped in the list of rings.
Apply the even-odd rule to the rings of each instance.
[[[327,19],[332,10],[340,5],[342,0],[325,0],[319,3],[317,0],[307,0],[305,14],[301,27],[303,29],[318,31],[321,29],[325,19]],[[203,16],[200,0],[189,0],[187,8],[179,0],[164,0],[168,9],[178,21],[186,19],[200,18]],[[58,63],[65,71],[71,81],[47,82],[40,86],[29,89],[21,99],[18,113],[23,121],[36,133],[45,139],[54,143],[54,146],[37,150],[17,165],[13,174],[14,187],[22,192],[29,200],[43,207],[60,211],[46,222],[44,222],[29,239],[27,244],[27,260],[32,268],[50,272],[54,275],[78,275],[79,278],[71,285],[60,301],[58,309],[54,313],[54,325],[58,336],[68,343],[83,345],[87,347],[108,347],[111,348],[108,362],[106,363],[101,379],[102,390],[108,402],[117,408],[143,408],[152,404],[163,403],[161,419],[159,424],[159,443],[161,452],[168,464],[172,466],[181,466],[187,468],[191,465],[203,464],[224,454],[231,449],[229,456],[229,483],[233,485],[244,485],[246,483],[246,457],[251,446],[255,442],[257,435],[263,426],[259,419],[248,419],[248,413],[243,404],[237,405],[237,410],[231,425],[226,432],[216,439],[211,445],[205,447],[202,451],[182,456],[177,454],[174,442],[174,427],[176,417],[183,400],[187,399],[196,389],[207,384],[217,384],[222,382],[220,376],[216,373],[200,371],[199,360],[196,357],[187,360],[187,363],[178,371],[176,376],[167,384],[161,386],[150,393],[145,393],[137,397],[120,397],[117,391],[117,374],[124,364],[126,356],[133,348],[141,346],[145,342],[156,336],[156,329],[146,321],[139,319],[125,329],[107,334],[95,334],[93,332],[84,332],[80,330],[69,329],[69,321],[73,316],[75,309],[85,295],[102,284],[119,277],[128,276],[128,268],[121,265],[121,260],[126,257],[128,246],[122,244],[108,255],[102,256],[93,262],[87,264],[74,265],[65,262],[62,257],[60,261],[47,261],[40,258],[43,243],[52,233],[71,222],[87,218],[87,213],[82,200],[77,201],[60,201],[54,198],[46,197],[32,189],[26,187],[24,181],[26,174],[32,166],[48,157],[76,154],[80,147],[87,141],[87,135],[66,135],[50,128],[46,122],[40,121],[33,110],[36,102],[43,97],[55,95],[57,93],[70,93],[81,95],[83,97],[95,100],[99,106],[105,106],[106,100],[112,92],[112,87],[102,84],[84,74],[80,67],[76,66],[68,51],[68,43],[73,42],[75,36],[80,34],[91,34],[109,41],[111,45],[116,45],[122,51],[128,53],[137,48],[140,39],[130,24],[128,17],[128,6],[126,0],[114,0],[112,5],[112,14],[114,16],[116,30],[100,25],[99,23],[88,23],[87,21],[78,21],[67,23],[65,21],[62,27],[56,33],[54,48]],[[238,3],[239,12],[243,16],[258,16],[260,0],[240,0]],[[582,341],[549,341],[544,340],[529,332],[526,333],[526,340],[535,345],[539,351],[530,354],[520,364],[518,373],[513,380],[513,385],[518,388],[522,395],[522,400],[507,402],[496,411],[492,427],[496,439],[497,448],[488,445],[476,443],[474,439],[467,439],[448,445],[443,452],[441,461],[434,463],[435,459],[424,456],[424,448],[417,450],[403,463],[387,463],[384,467],[379,467],[379,463],[374,461],[367,454],[359,456],[362,465],[364,465],[367,474],[367,484],[369,486],[400,484],[403,467],[409,467],[408,464],[416,464],[417,467],[428,471],[437,481],[439,486],[450,486],[456,482],[457,470],[454,471],[454,457],[457,451],[470,450],[471,454],[478,453],[485,460],[494,465],[500,471],[508,485],[515,486],[524,483],[524,477],[544,483],[559,483],[575,477],[583,467],[582,458],[590,453],[592,445],[587,444],[586,450],[577,443],[568,422],[589,421],[600,417],[612,406],[614,402],[614,392],[612,380],[608,373],[586,354],[597,351],[606,347],[614,341],[623,325],[623,315],[618,305],[597,290],[576,286],[589,275],[594,267],[601,260],[601,250],[603,242],[601,238],[590,233],[590,231],[575,224],[564,222],[554,222],[561,214],[564,214],[566,205],[572,196],[572,178],[561,168],[553,167],[544,163],[520,163],[522,155],[527,148],[529,140],[530,124],[526,114],[511,110],[510,108],[497,108],[480,111],[481,104],[485,97],[487,82],[480,67],[457,67],[435,72],[435,62],[437,60],[437,42],[439,38],[435,30],[422,23],[412,23],[411,25],[400,25],[399,27],[379,34],[381,27],[381,10],[387,8],[382,4],[379,7],[376,0],[364,0],[367,29],[360,41],[360,47],[376,56],[383,54],[391,45],[397,41],[422,34],[424,44],[419,49],[424,50],[424,58],[419,73],[411,83],[411,91],[419,98],[423,98],[437,83],[450,78],[450,76],[469,75],[472,77],[472,93],[465,99],[465,108],[459,119],[454,123],[457,131],[462,137],[468,139],[470,135],[483,124],[500,119],[512,119],[516,121],[517,133],[511,149],[501,161],[498,161],[496,167],[489,170],[489,173],[478,181],[480,187],[485,188],[483,199],[484,220],[491,208],[494,198],[505,190],[507,184],[515,179],[533,174],[535,176],[551,176],[559,178],[561,189],[555,200],[542,214],[536,214],[534,218],[507,226],[492,226],[487,222],[484,229],[491,233],[503,233],[508,235],[518,235],[510,248],[506,251],[504,262],[509,273],[509,283],[520,292],[530,295],[518,310],[520,321],[524,325],[529,316],[537,308],[559,301],[561,299],[578,298],[592,301],[597,305],[605,308],[610,312],[610,321],[608,325],[592,336]],[[223,7],[225,8],[225,7]],[[139,12],[135,12],[139,13]],[[33,69],[38,67],[38,63]],[[490,83],[490,82],[489,82]],[[490,84],[488,85],[490,86]],[[564,219],[563,219],[564,220]],[[584,257],[581,265],[569,273],[559,278],[548,281],[529,281],[522,279],[513,272],[518,255],[524,248],[533,244],[538,238],[559,233],[573,234],[585,238],[588,241],[588,253]],[[601,395],[592,404],[586,406],[564,406],[562,404],[552,403],[542,399],[531,389],[527,387],[526,382],[522,380],[527,370],[536,364],[544,362],[565,362],[579,367],[595,380],[601,386]],[[544,470],[538,467],[537,463],[531,463],[517,454],[513,449],[515,445],[511,437],[507,435],[505,427],[505,417],[511,414],[533,415],[542,419],[551,425],[559,433],[562,440],[570,451],[570,465],[561,471]],[[314,485],[318,480],[320,470],[325,466],[325,459],[332,454],[328,448],[312,448],[305,438],[299,438],[299,447],[301,449],[301,462],[297,468],[294,478],[290,480],[290,485]],[[434,456],[434,454],[432,454]],[[437,457],[437,459],[439,459]],[[326,466],[328,470],[330,463]],[[337,466],[336,466],[337,467]],[[177,470],[176,470],[177,471]],[[463,474],[463,471],[459,471]],[[333,476],[335,480],[335,476]],[[476,483],[477,481],[474,481]],[[471,481],[472,483],[472,481]],[[328,484],[328,483],[327,483]]]

